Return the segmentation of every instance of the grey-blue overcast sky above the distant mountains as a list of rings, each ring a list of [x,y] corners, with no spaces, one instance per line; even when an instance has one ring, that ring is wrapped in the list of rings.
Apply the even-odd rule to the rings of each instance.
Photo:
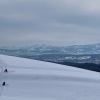
[[[0,0],[0,46],[100,43],[100,0]]]

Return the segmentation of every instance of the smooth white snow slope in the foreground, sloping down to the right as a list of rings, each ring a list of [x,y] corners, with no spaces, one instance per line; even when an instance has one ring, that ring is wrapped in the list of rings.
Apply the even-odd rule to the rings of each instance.
[[[100,100],[100,73],[70,66],[0,55],[3,81],[0,100]]]

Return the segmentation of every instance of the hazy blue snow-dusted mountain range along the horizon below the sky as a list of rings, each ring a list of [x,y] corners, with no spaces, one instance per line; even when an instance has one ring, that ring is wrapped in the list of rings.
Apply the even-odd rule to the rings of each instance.
[[[31,54],[100,54],[100,43],[91,45],[50,46],[32,45],[24,47],[1,47],[0,53],[31,53]]]

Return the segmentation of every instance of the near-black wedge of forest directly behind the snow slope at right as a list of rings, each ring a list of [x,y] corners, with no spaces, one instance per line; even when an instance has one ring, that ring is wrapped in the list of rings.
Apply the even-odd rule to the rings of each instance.
[[[73,63],[73,62],[55,62],[58,64],[69,65],[73,67],[83,68],[91,71],[100,72],[100,64],[94,63]]]

